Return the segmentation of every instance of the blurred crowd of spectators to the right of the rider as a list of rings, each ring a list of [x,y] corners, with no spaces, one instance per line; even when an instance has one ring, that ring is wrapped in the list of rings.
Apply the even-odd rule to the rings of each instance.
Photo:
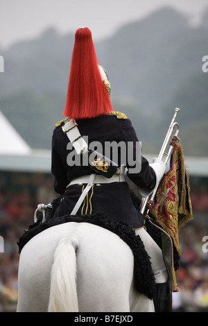
[[[191,187],[193,221],[180,231],[180,292],[173,293],[173,311],[208,312],[208,187]]]

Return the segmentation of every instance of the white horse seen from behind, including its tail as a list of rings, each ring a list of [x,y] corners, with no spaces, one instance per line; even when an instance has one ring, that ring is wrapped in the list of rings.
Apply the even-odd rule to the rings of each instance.
[[[64,223],[33,237],[19,259],[19,312],[154,311],[134,287],[132,250],[90,223]]]

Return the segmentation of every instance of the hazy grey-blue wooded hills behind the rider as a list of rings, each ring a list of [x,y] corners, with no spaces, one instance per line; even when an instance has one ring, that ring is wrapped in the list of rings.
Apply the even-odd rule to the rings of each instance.
[[[157,153],[180,107],[186,154],[207,156],[208,73],[202,72],[207,16],[193,28],[187,17],[164,8],[95,42],[110,76],[114,109],[132,119],[145,152]],[[50,148],[54,123],[62,119],[73,40],[49,28],[34,40],[1,49],[0,110],[33,148]]]

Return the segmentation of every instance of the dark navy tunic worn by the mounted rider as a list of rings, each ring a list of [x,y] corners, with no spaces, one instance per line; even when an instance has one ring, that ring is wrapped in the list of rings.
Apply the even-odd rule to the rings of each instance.
[[[130,119],[117,119],[116,115],[110,114],[92,119],[78,119],[80,135],[88,137],[88,144],[92,141],[132,141],[134,151],[137,139],[135,129]],[[89,166],[70,166],[67,164],[67,150],[69,139],[62,131],[63,123],[53,131],[52,139],[52,166],[51,171],[55,177],[54,188],[64,199],[60,203],[55,216],[70,214],[76,205],[78,198],[83,192],[85,185],[69,185],[74,178],[94,173]],[[155,187],[155,173],[149,166],[148,161],[141,157],[141,171],[129,173],[127,162],[127,175],[130,180],[141,188],[153,189]],[[112,182],[109,184],[94,185],[87,194],[84,202],[78,210],[80,214],[102,213],[119,221],[128,223],[130,228],[141,228],[144,224],[144,216],[135,209],[130,196],[128,182]]]

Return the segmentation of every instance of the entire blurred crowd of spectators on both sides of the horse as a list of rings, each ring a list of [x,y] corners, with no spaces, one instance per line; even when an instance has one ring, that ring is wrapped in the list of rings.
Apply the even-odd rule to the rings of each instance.
[[[1,180],[1,179],[0,179]],[[57,194],[53,180],[44,176],[42,186],[15,190],[0,181],[0,311],[16,311],[19,252],[17,240],[33,224],[38,203],[49,203]],[[208,189],[191,189],[193,221],[180,231],[180,268],[176,272],[180,292],[173,293],[173,311],[208,311]],[[2,245],[2,243],[1,243]],[[0,247],[2,249],[2,246]]]

